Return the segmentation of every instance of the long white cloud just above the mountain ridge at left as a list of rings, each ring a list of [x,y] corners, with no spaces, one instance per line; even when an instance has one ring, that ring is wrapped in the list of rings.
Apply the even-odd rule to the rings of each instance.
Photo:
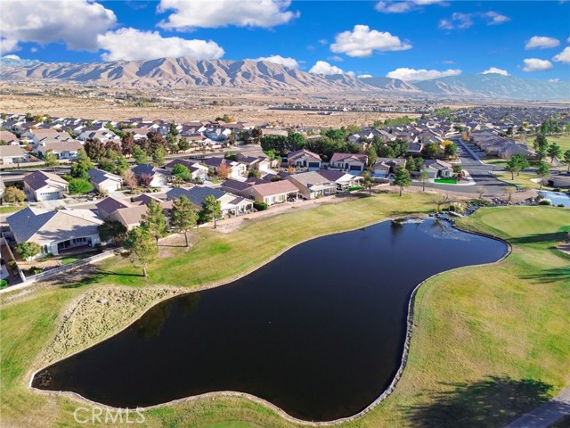
[[[162,37],[158,31],[118,29],[97,37],[104,61],[152,60],[188,56],[194,60],[215,60],[224,55],[224,49],[212,41],[186,40],[181,37]]]

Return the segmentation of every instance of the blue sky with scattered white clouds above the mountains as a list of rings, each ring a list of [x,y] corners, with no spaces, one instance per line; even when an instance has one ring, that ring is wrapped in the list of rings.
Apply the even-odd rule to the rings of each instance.
[[[3,0],[3,4],[3,54],[44,62],[165,55],[270,57],[325,74],[342,70],[418,80],[494,68],[524,78],[570,79],[570,2]]]

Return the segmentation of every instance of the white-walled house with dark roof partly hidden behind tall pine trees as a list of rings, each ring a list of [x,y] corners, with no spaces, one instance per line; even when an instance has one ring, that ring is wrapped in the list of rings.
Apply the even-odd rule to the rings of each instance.
[[[212,195],[220,202],[222,207],[222,217],[231,217],[244,214],[253,210],[253,201],[242,196],[236,196],[232,193],[225,193],[220,189],[196,185],[191,189],[175,187],[167,192],[167,199],[175,200],[181,196],[186,196],[190,202],[196,207],[196,210],[202,209],[202,203],[206,196]]]

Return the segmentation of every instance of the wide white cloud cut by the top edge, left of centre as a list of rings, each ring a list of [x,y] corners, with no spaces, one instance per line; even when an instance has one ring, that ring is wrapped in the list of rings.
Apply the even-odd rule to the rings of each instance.
[[[171,13],[160,21],[164,29],[274,27],[299,16],[287,9],[290,0],[160,0],[158,11]]]

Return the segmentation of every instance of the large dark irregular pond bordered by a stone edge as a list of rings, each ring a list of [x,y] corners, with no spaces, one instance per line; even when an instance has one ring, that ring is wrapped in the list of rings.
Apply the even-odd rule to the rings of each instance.
[[[114,407],[243,391],[305,420],[352,416],[400,365],[413,288],[506,251],[433,219],[318,238],[232,284],[158,304],[33,385]]]

